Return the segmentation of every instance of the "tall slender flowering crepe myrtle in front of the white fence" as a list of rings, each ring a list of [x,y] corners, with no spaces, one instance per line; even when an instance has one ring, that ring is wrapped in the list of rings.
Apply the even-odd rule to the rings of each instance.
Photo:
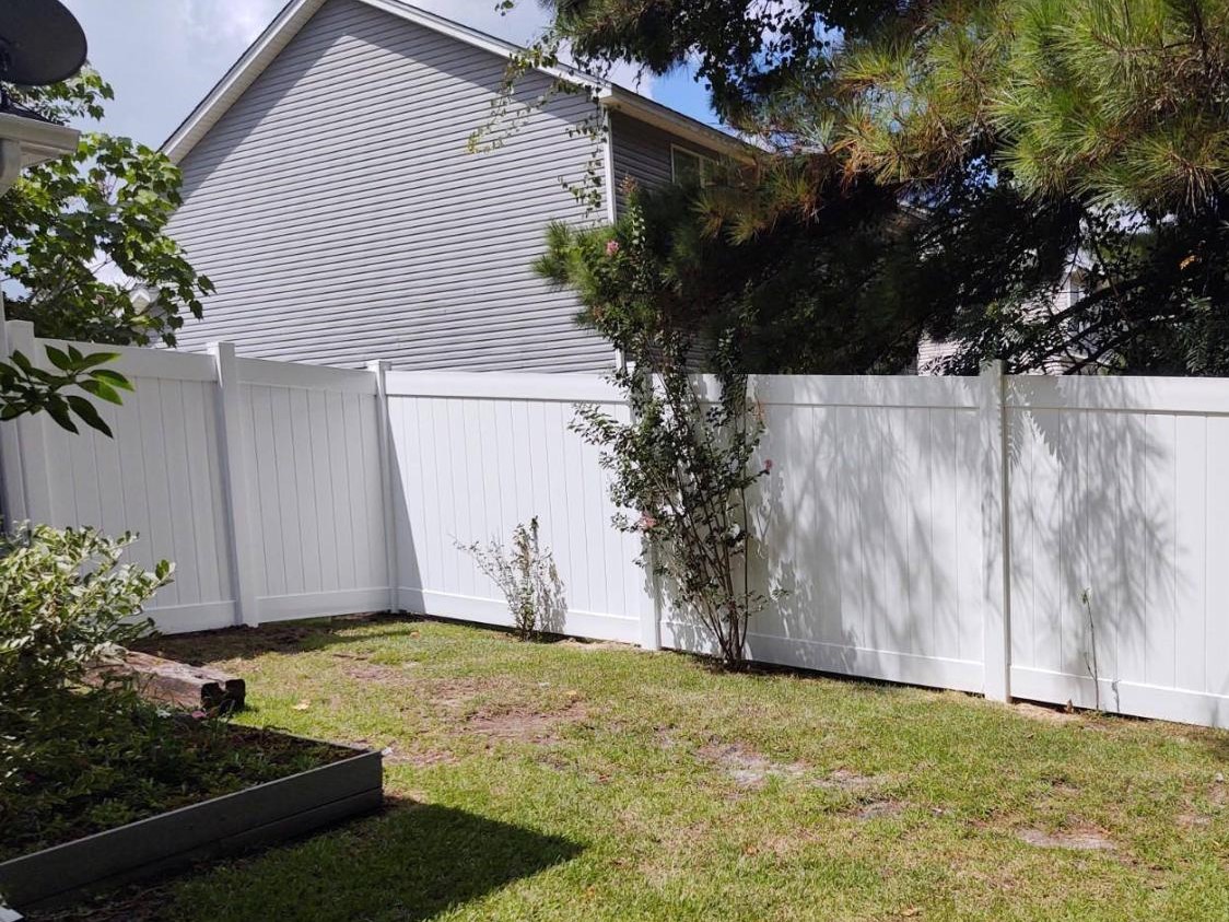
[[[665,580],[672,607],[697,618],[723,663],[741,669],[747,625],[774,595],[752,585],[748,514],[748,493],[772,461],[755,462],[764,420],[747,397],[736,331],[718,331],[713,348],[697,348],[667,250],[649,238],[633,188],[614,227],[553,226],[536,269],[576,291],[581,322],[624,358],[611,381],[627,397],[629,419],[580,404],[571,424],[601,449],[611,499],[628,510],[614,526],[642,536],[640,564]],[[692,374],[699,354],[709,377]]]

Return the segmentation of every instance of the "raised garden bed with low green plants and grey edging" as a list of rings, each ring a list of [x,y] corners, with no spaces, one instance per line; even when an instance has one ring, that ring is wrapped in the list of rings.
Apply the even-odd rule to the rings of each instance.
[[[32,777],[0,799],[0,894],[11,905],[59,905],[381,804],[379,752],[213,720],[157,719],[165,727],[143,741],[150,751],[124,754],[133,756],[127,766],[112,752],[101,771],[82,765],[77,789],[64,778]],[[136,740],[135,733],[118,736],[120,746]]]

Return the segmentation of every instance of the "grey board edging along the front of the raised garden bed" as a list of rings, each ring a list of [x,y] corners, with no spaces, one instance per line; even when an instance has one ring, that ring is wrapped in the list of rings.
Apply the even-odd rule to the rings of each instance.
[[[354,752],[318,768],[2,862],[0,894],[21,911],[54,907],[370,813],[383,803],[381,754]]]

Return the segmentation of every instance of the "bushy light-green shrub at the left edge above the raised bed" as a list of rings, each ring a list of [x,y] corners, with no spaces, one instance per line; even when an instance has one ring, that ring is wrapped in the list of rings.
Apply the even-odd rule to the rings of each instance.
[[[4,706],[80,684],[91,666],[150,633],[141,611],[173,567],[122,563],[135,540],[25,524],[0,536]]]

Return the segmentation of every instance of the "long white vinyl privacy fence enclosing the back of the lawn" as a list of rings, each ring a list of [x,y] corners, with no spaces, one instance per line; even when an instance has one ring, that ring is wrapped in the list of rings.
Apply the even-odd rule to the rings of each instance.
[[[41,355],[28,325],[6,333]],[[705,648],[569,428],[575,403],[627,413],[600,376],[119,352],[136,393],[102,408],[116,438],[4,424],[4,497],[14,519],[136,531],[136,559],[176,561],[162,629],[388,609],[506,625],[456,545],[537,515],[567,584],[558,629]],[[753,388],[773,460],[753,567],[787,594],[756,616],[752,656],[1229,727],[1229,381]]]

